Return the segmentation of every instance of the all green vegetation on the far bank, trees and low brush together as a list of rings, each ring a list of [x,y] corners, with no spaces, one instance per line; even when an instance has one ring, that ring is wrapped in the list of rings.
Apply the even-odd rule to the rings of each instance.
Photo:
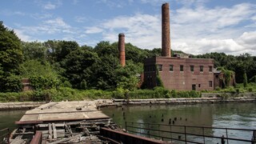
[[[98,42],[94,47],[79,46],[74,41],[21,42],[14,30],[0,22],[0,102],[201,97],[198,91],[164,89],[159,74],[154,90],[138,89],[144,59],[159,55],[160,48],[142,50],[126,43],[126,66],[122,67],[118,59],[118,42]],[[194,57],[214,58],[214,66],[222,66],[226,74],[226,83],[232,71],[238,83],[248,79],[251,82],[235,87],[229,87],[227,83],[226,89],[218,91],[256,91],[254,56],[210,53]],[[34,90],[22,92],[22,78],[30,78]]]

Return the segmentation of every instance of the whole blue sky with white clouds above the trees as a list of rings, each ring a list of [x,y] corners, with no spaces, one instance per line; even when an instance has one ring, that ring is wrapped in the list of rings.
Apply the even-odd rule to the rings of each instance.
[[[171,49],[256,56],[256,0],[3,0],[0,21],[24,42],[126,42],[162,46],[161,6],[170,4]]]

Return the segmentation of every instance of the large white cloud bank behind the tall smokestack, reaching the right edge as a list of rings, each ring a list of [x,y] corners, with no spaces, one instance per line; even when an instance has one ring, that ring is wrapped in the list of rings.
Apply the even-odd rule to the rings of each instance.
[[[142,0],[142,2],[149,1]],[[170,14],[172,49],[183,50],[190,54],[207,52],[256,54],[254,45],[256,34],[250,30],[245,32],[245,26],[238,26],[254,18],[256,14],[254,7],[248,3],[213,9],[200,5],[194,9],[182,7],[172,11]],[[93,28],[99,28],[103,40],[106,41],[116,42],[118,33],[124,33],[126,42],[131,42],[135,46],[147,49],[161,47],[161,14],[119,16],[103,21]],[[94,33],[93,28],[91,34]]]

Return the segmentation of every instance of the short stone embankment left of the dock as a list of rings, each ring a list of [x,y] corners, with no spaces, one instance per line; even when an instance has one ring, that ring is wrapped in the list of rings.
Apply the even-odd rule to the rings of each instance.
[[[32,109],[46,102],[0,102],[0,110],[26,110]]]

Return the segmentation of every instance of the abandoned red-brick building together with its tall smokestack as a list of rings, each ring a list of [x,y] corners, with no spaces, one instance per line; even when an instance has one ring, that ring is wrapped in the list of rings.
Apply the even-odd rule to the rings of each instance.
[[[220,82],[214,74],[214,59],[171,57],[169,4],[162,5],[162,56],[146,58],[143,81],[146,88],[158,86],[157,75],[169,90],[214,90]],[[214,77],[215,75],[215,77]],[[215,79],[214,79],[215,78]],[[217,78],[217,79],[216,79]]]

